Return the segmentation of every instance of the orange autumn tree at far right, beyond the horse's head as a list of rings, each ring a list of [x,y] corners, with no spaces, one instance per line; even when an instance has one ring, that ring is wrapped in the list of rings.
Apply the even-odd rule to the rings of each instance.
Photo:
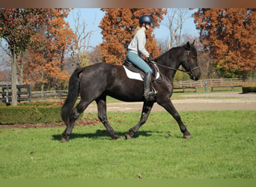
[[[204,52],[222,76],[245,77],[256,66],[256,13],[246,8],[199,8],[194,14]]]

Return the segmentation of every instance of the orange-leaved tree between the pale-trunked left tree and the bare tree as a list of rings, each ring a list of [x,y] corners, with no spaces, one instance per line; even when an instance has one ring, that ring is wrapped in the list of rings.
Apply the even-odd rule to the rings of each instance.
[[[37,28],[31,37],[33,46],[29,48],[25,64],[25,82],[35,82],[41,91],[46,86],[61,89],[69,75],[64,70],[65,55],[76,49],[76,34],[64,21],[67,11],[56,10],[52,19]]]

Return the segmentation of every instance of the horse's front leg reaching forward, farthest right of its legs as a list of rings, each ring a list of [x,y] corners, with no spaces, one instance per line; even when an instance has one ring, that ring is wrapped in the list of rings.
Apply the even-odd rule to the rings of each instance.
[[[166,102],[160,102],[159,105],[162,105],[163,108],[165,108],[166,111],[168,111],[174,119],[177,121],[177,123],[180,126],[180,131],[183,132],[183,138],[192,138],[192,135],[189,133],[189,131],[186,129],[186,126],[183,124],[180,114],[177,112],[177,110],[174,108],[174,105],[172,104],[171,100],[168,99]]]

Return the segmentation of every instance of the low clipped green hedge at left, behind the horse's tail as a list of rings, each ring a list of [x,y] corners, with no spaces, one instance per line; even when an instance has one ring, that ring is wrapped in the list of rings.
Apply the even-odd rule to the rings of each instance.
[[[0,105],[1,125],[58,122],[61,122],[60,105]]]

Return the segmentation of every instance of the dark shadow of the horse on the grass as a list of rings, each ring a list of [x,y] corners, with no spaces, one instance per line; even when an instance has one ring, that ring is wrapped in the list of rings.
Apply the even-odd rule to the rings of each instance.
[[[124,135],[127,132],[117,132],[117,134],[123,138]],[[138,136],[150,136],[151,135],[151,131],[138,131],[135,133],[135,135],[132,138],[138,138]],[[97,130],[95,133],[85,133],[85,134],[81,134],[81,133],[72,133],[70,135],[70,140],[72,139],[76,139],[76,138],[101,138],[101,137],[106,137],[111,139],[109,132],[107,132],[106,130]],[[61,134],[59,135],[52,135],[52,139],[55,141],[61,141]]]

